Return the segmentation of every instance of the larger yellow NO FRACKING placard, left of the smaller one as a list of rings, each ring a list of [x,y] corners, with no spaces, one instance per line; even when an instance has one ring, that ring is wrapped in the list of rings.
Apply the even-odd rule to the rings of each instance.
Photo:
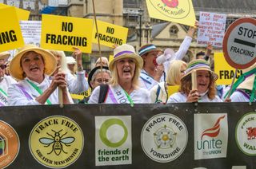
[[[91,53],[93,20],[42,14],[41,46],[45,49]]]

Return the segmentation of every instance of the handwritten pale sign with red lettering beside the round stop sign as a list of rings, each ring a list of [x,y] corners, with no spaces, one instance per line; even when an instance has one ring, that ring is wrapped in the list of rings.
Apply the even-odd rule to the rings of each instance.
[[[226,27],[226,14],[200,12],[198,26],[198,45],[207,45],[221,48]]]

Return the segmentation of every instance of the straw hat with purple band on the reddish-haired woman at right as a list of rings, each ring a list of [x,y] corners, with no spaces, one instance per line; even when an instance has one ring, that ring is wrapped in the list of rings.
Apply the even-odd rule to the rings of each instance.
[[[190,63],[187,65],[185,75],[182,78],[191,75],[193,70],[207,70],[212,75],[211,77],[213,77],[214,81],[217,81],[217,79],[218,79],[218,74],[214,73],[210,69],[209,63],[207,61],[205,61],[204,59],[196,59],[194,61],[190,61]]]

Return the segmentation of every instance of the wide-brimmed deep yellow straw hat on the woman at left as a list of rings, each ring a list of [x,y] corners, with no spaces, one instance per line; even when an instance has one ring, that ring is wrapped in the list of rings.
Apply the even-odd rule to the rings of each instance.
[[[39,48],[35,45],[25,45],[19,52],[14,56],[14,58],[10,61],[10,75],[17,80],[23,80],[25,77],[23,76],[23,70],[21,65],[21,59],[27,52],[35,52],[42,56],[44,65],[45,65],[45,74],[51,75],[54,73],[57,68],[57,61],[54,55],[48,52],[46,49]]]

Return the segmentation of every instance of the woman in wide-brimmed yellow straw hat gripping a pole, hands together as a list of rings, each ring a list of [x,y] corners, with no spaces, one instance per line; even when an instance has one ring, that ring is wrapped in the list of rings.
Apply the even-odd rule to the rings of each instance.
[[[10,74],[18,84],[8,88],[9,105],[58,104],[58,88],[63,104],[73,103],[66,88],[64,73],[56,73],[53,54],[34,45],[25,45],[10,61]]]

